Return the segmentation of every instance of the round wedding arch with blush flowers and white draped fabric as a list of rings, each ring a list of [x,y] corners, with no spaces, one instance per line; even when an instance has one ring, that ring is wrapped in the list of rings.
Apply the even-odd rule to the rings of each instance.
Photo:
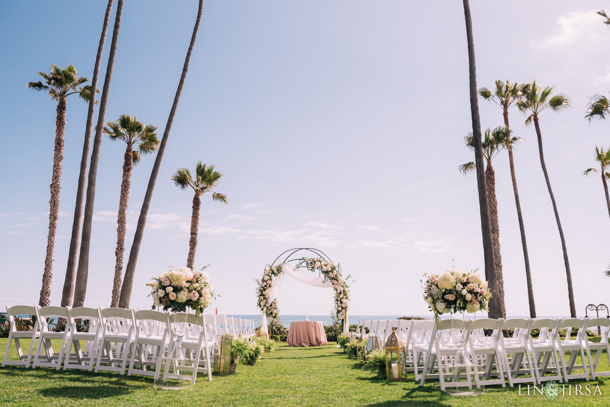
[[[283,260],[282,260],[283,259]],[[318,276],[312,273],[318,272]],[[314,248],[293,248],[284,251],[271,264],[265,265],[262,279],[256,280],[257,306],[262,315],[262,328],[268,332],[267,320],[279,319],[278,294],[284,276],[289,275],[301,283],[315,287],[332,287],[334,289],[334,309],[337,318],[342,320],[343,332],[349,330],[348,305],[350,286],[343,278],[341,264],[334,264],[321,250]]]

